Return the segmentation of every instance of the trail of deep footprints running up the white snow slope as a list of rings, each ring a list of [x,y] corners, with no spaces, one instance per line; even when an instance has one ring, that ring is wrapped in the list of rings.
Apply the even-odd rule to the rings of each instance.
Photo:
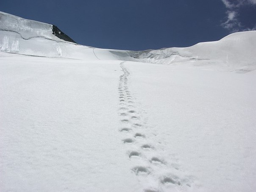
[[[147,186],[144,192],[160,192],[168,190],[170,187],[183,189],[191,187],[192,180],[186,176],[180,176],[182,174],[178,173],[180,171],[177,162],[167,164],[160,155],[157,155],[159,149],[152,145],[152,138],[147,136],[150,131],[143,122],[142,112],[136,107],[134,97],[129,91],[128,76],[130,73],[124,67],[124,63],[125,61],[120,63],[123,75],[120,75],[118,86],[119,115],[122,125],[119,131],[124,137],[122,142],[128,148],[127,156],[134,165],[131,167],[131,171]],[[156,188],[156,186],[158,187]]]

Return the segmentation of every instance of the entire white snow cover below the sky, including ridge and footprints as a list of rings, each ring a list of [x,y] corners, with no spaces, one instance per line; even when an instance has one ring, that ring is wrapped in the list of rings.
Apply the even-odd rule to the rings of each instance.
[[[0,21],[0,191],[255,191],[256,31],[133,52]]]

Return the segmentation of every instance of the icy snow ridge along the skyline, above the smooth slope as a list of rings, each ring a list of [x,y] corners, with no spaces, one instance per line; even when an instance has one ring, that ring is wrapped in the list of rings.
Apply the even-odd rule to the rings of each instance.
[[[232,33],[215,42],[159,50],[111,50],[74,43],[56,26],[0,11],[0,50],[7,53],[83,60],[189,65],[236,72],[256,70],[256,31]],[[59,39],[61,38],[61,39]],[[64,40],[68,41],[64,41]]]

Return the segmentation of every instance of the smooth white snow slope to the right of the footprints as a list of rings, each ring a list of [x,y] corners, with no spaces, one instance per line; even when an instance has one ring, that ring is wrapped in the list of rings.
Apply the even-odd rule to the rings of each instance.
[[[190,179],[187,190],[254,191],[255,72],[132,62],[125,67],[130,91],[143,101],[150,132],[161,142],[164,153],[157,157]]]

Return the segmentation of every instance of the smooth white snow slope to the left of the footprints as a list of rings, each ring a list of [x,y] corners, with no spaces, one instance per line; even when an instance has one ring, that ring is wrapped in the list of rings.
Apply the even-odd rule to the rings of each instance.
[[[136,191],[117,131],[120,62],[4,55],[1,191]]]

